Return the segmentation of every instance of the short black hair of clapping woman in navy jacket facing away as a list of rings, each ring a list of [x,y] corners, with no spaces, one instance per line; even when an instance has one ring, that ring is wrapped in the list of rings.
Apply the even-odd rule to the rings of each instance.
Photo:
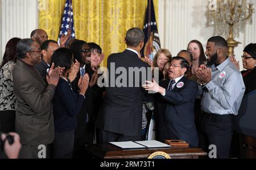
[[[66,72],[73,64],[72,52],[68,48],[56,49],[56,51],[52,54],[51,65],[52,63],[54,63],[54,68],[58,66],[64,67],[64,72]]]

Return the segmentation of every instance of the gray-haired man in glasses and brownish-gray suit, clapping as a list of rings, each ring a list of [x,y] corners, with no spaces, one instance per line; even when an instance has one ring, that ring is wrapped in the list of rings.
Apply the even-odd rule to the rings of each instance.
[[[38,42],[22,39],[16,45],[18,60],[13,71],[14,94],[18,102],[15,130],[20,135],[20,158],[47,158],[48,144],[53,142],[54,126],[52,98],[62,69],[49,69],[46,77],[48,85],[35,70],[42,60]]]

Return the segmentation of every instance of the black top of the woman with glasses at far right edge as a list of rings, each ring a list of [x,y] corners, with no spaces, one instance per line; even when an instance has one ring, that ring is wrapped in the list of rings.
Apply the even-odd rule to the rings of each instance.
[[[243,82],[245,83],[245,94],[252,92],[256,89],[256,67],[253,71],[242,71]]]

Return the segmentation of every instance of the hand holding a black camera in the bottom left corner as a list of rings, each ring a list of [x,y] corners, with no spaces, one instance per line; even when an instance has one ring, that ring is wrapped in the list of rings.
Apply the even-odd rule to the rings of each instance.
[[[4,134],[0,132],[0,152],[5,152],[10,159],[18,158],[21,144],[19,135],[15,132]]]

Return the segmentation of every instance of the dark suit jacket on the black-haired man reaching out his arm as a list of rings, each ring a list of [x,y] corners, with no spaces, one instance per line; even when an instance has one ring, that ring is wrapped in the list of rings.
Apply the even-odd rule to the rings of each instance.
[[[159,83],[166,88],[166,95],[158,94],[156,99],[156,125],[158,139],[181,139],[198,146],[198,138],[194,120],[194,101],[197,94],[197,84],[183,76],[179,82],[184,85],[171,91],[167,90],[170,80]],[[177,82],[177,83],[179,83]]]

